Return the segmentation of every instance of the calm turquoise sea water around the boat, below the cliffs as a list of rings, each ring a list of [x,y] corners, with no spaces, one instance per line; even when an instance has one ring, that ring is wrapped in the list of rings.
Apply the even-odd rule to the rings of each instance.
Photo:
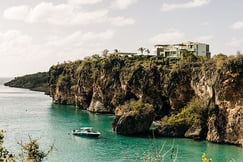
[[[57,162],[120,162],[144,161],[151,152],[161,155],[167,150],[165,161],[201,162],[203,152],[213,162],[235,160],[243,162],[243,149],[232,145],[173,138],[125,137],[112,132],[112,115],[93,114],[73,106],[52,104],[51,98],[40,92],[9,88],[0,79],[0,129],[6,131],[4,145],[12,152],[19,150],[17,142],[38,138],[42,149],[56,147],[46,161]],[[97,139],[72,136],[70,131],[91,126],[101,131]],[[173,154],[170,150],[173,147]]]

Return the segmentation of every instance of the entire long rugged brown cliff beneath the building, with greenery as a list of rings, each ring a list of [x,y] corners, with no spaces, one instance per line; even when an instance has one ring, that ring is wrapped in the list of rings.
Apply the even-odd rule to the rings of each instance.
[[[187,59],[169,65],[147,56],[110,56],[64,63],[50,68],[50,93],[55,103],[100,113],[115,113],[131,100],[142,101],[153,106],[146,116],[149,122],[166,118],[157,130],[160,136],[242,145],[243,57],[191,62]],[[195,98],[202,103],[200,111],[190,107]],[[135,120],[138,116],[131,114],[136,113],[116,114],[114,130],[122,128],[119,130],[126,134],[123,126],[131,125],[130,121],[143,127]],[[148,126],[127,134],[146,129]]]

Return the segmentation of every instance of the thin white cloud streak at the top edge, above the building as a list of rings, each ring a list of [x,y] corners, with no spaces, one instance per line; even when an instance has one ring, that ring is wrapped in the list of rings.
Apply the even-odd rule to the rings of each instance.
[[[185,3],[163,3],[161,10],[162,11],[171,11],[175,9],[186,9],[186,8],[195,8],[206,5],[210,0],[191,0]]]

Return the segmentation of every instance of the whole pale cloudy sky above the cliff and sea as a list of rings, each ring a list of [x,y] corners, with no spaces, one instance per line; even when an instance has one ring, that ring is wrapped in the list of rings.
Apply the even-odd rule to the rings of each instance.
[[[104,49],[153,54],[155,44],[243,51],[242,0],[1,0],[0,77],[48,71]]]

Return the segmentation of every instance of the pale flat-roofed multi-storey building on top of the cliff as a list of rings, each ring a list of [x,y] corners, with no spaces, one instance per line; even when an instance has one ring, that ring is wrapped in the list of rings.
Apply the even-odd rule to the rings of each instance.
[[[163,57],[179,58],[182,56],[183,50],[192,52],[195,56],[211,57],[209,45],[205,43],[185,42],[172,45],[155,45],[154,47],[155,53]]]

